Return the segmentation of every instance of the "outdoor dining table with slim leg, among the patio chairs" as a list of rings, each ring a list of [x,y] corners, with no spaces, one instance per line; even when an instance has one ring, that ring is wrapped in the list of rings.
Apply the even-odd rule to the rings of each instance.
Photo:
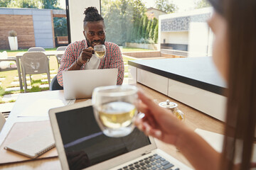
[[[45,51],[43,53],[46,54],[46,56],[52,56],[52,55],[63,55],[65,51]],[[18,52],[18,54],[16,55],[16,65],[17,65],[17,70],[18,70],[18,81],[20,84],[20,88],[21,90],[23,89],[23,83],[22,83],[22,78],[21,78],[21,64],[20,64],[20,60],[21,57],[23,56],[23,54],[26,52]]]

